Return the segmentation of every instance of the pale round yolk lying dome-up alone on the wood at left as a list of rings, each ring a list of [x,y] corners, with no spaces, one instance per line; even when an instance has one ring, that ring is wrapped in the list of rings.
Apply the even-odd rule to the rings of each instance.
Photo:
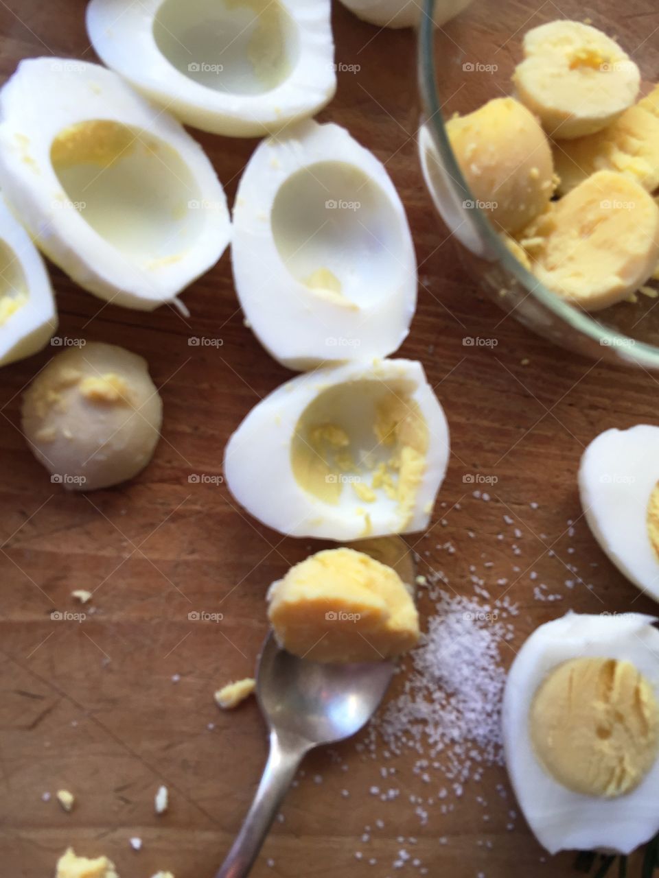
[[[64,488],[133,478],[160,438],[163,403],[137,354],[88,342],[53,357],[25,391],[22,424],[35,457]]]

